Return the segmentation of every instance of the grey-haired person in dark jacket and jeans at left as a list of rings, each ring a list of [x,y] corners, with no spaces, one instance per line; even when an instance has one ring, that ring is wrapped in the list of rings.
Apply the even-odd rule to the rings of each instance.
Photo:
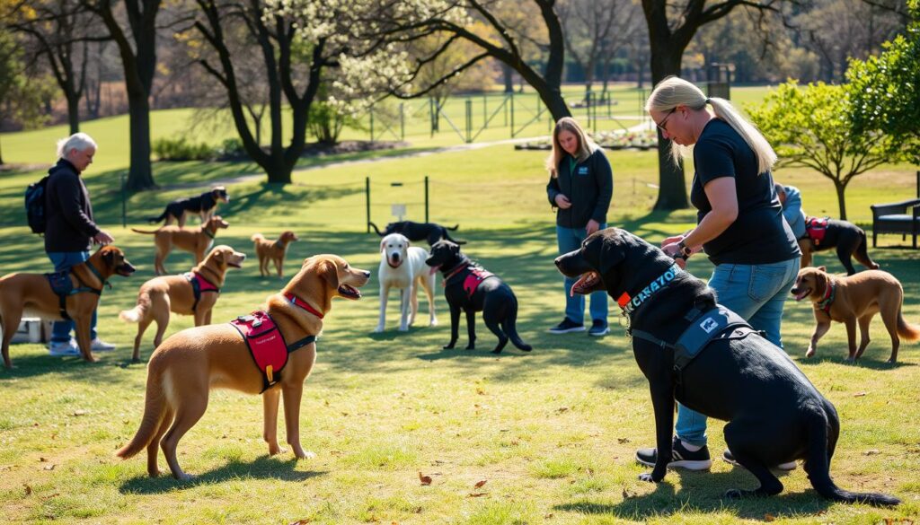
[[[108,245],[114,239],[93,222],[93,206],[80,174],[92,164],[97,144],[86,133],[74,133],[57,143],[58,162],[48,171],[45,188],[45,253],[52,260],[54,271],[70,269],[89,258],[95,245]],[[73,321],[54,323],[49,350],[52,356],[78,356],[71,331]],[[94,351],[106,351],[115,346],[99,339],[96,333],[96,313],[90,325]]]

